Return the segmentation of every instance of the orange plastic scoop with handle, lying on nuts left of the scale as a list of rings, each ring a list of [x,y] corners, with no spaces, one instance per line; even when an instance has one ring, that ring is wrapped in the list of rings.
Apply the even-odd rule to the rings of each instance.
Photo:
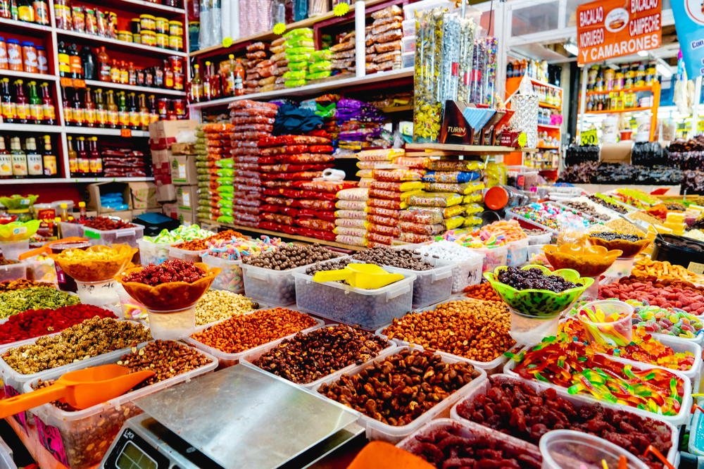
[[[77,409],[88,408],[121,396],[154,375],[151,370],[130,372],[125,366],[102,365],[64,373],[50,386],[0,401],[0,418],[51,401],[63,401]]]

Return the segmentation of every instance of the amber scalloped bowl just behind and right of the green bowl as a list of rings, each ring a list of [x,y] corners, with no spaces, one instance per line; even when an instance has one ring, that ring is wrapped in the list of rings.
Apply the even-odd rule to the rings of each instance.
[[[578,244],[546,244],[543,252],[555,269],[577,270],[582,277],[596,277],[606,272],[614,261],[621,256],[620,249],[609,250],[605,246]]]

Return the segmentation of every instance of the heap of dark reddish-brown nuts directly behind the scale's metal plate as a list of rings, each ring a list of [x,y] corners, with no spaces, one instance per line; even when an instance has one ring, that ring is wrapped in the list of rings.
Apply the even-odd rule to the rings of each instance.
[[[347,325],[296,334],[255,361],[263,370],[298,384],[306,384],[377,356],[388,344],[371,332]]]

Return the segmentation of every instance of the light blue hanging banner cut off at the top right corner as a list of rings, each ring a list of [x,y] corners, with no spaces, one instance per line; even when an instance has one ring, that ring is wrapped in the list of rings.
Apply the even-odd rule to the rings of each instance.
[[[690,80],[704,75],[704,4],[701,0],[672,2],[674,27]]]

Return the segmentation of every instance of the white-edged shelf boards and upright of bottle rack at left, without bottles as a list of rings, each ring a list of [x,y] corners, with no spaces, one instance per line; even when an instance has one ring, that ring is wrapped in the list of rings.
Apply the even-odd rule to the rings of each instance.
[[[41,177],[36,179],[8,179],[0,180],[0,185],[27,185],[27,184],[60,184],[60,183],[87,183],[87,182],[105,182],[105,181],[147,181],[152,180],[151,177],[71,177],[68,173],[68,141],[67,135],[96,135],[103,137],[134,137],[146,139],[149,137],[149,132],[144,130],[122,130],[101,127],[73,127],[68,126],[64,122],[63,102],[61,100],[61,79],[58,75],[58,42],[65,41],[67,43],[76,43],[82,46],[106,46],[108,54],[117,52],[120,57],[134,57],[134,63],[144,63],[146,58],[149,58],[150,63],[154,59],[161,60],[168,56],[179,56],[184,59],[184,68],[187,70],[188,54],[182,51],[173,51],[171,49],[162,49],[154,46],[145,46],[144,44],[135,44],[133,42],[120,41],[108,37],[100,37],[97,35],[89,35],[82,32],[68,31],[56,27],[56,14],[54,12],[54,0],[47,0],[49,5],[49,25],[39,25],[36,23],[26,23],[23,21],[6,20],[0,18],[0,29],[4,30],[3,36],[19,37],[28,36],[37,39],[36,42],[44,45],[49,59],[49,73],[26,73],[15,72],[13,70],[0,70],[0,77],[9,77],[11,79],[35,80],[37,82],[49,82],[51,94],[54,99],[54,107],[56,111],[56,125],[23,125],[23,124],[0,124],[0,132],[4,132],[7,136],[20,135],[28,136],[30,133],[36,135],[51,134],[56,135],[56,143],[54,151],[56,151],[58,162],[57,177]],[[150,1],[144,0],[86,0],[82,4],[95,5],[101,8],[107,8],[111,11],[118,11],[121,16],[132,13],[134,17],[139,14],[150,13],[153,15],[164,16],[169,20],[180,20],[184,25],[184,50],[188,50],[188,25],[186,18],[186,10],[184,8],[173,8],[161,4],[153,4]],[[130,58],[132,60],[132,58]],[[150,65],[146,65],[150,66]],[[184,70],[184,73],[186,73]],[[64,80],[65,81],[65,80]],[[85,80],[85,85],[91,88],[114,89],[116,91],[139,92],[145,94],[154,94],[156,96],[170,98],[185,98],[186,92],[175,89],[165,89],[156,87],[140,87],[133,85],[121,85],[120,83],[102,82],[98,80]],[[58,135],[57,135],[58,134]],[[52,139],[54,140],[54,139]],[[146,143],[146,141],[145,141]]]

